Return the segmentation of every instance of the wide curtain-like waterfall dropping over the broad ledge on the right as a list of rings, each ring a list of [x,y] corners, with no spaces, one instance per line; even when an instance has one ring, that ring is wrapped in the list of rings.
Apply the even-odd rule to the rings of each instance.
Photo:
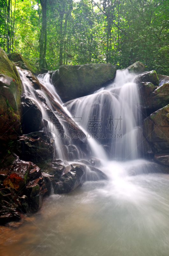
[[[67,102],[65,106],[111,159],[136,159],[137,126],[141,115],[135,75],[117,70],[114,82],[95,93]]]

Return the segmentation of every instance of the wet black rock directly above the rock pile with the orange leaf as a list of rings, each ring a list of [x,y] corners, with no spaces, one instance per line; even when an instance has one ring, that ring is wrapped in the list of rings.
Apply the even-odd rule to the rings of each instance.
[[[53,142],[44,131],[18,137],[17,152],[22,159],[38,163],[53,158]]]

